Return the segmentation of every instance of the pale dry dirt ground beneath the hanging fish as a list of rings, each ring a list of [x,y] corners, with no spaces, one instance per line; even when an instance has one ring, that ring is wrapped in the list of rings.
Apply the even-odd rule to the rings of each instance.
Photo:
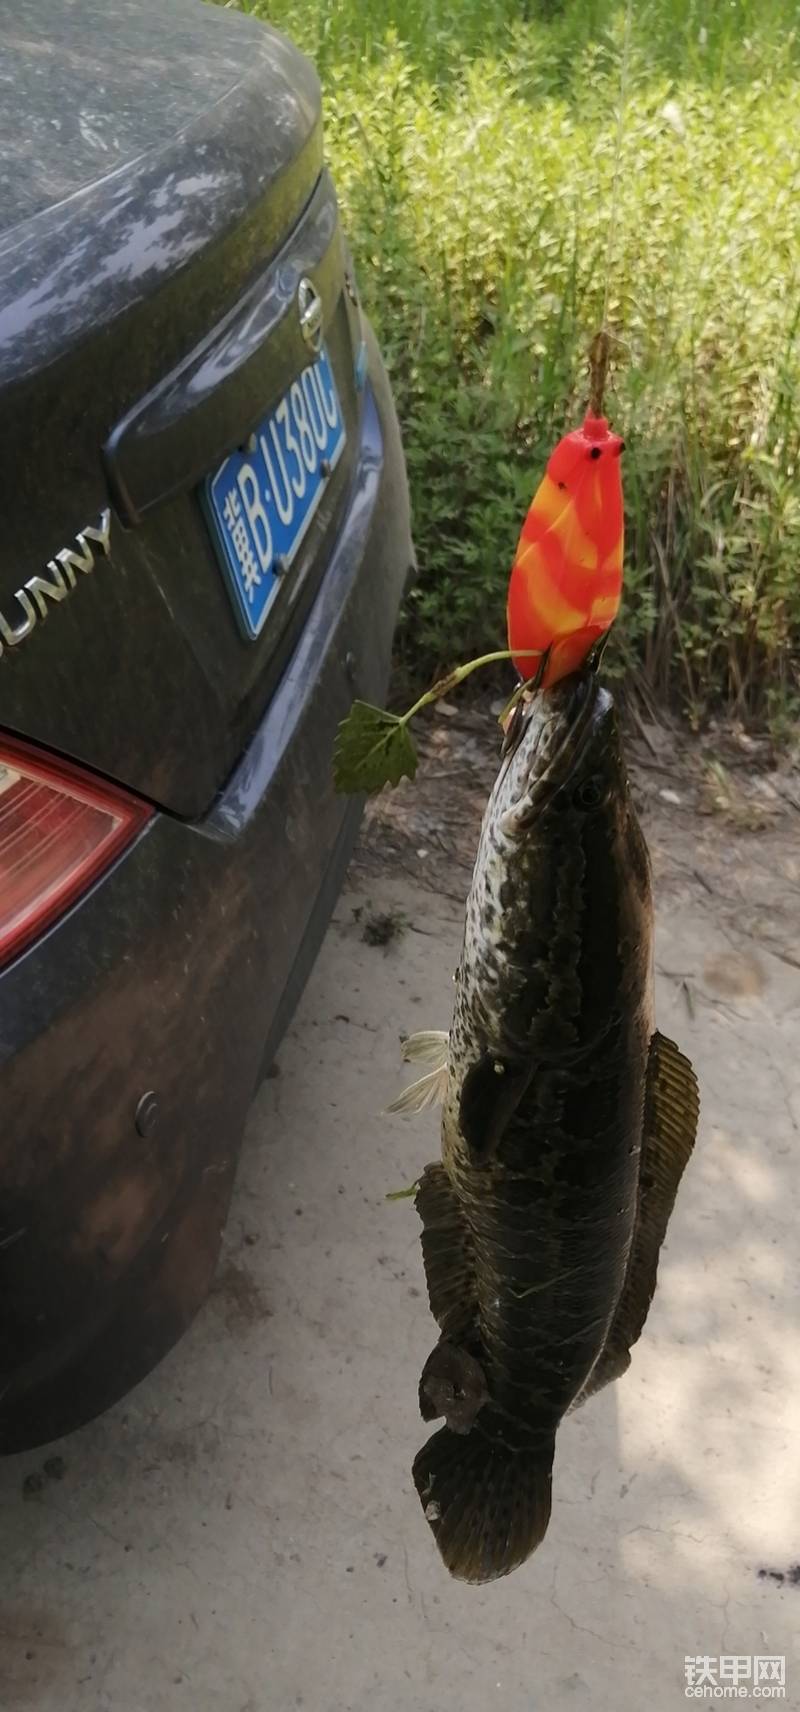
[[[702,1118],[632,1368],[564,1424],[509,1580],[451,1584],[413,1493],[433,1322],[385,1192],[437,1121],[380,1109],[401,1036],[449,1020],[488,731],[440,712],[368,813],[194,1329],[0,1464],[3,1712],[670,1712],[719,1654],[786,1656],[800,1707],[800,789],[743,738],[634,745],[660,1025]]]

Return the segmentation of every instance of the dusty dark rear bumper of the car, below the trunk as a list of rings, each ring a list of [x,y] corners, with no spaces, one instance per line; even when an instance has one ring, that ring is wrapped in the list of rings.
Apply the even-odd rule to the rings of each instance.
[[[336,724],[353,695],[385,690],[409,563],[397,423],[370,344],[344,526],[223,796],[202,823],[158,815],[0,978],[0,1450],[104,1409],[207,1293],[259,1067],[358,825],[360,805],[331,788]],[[149,1091],[152,1130],[135,1123]]]

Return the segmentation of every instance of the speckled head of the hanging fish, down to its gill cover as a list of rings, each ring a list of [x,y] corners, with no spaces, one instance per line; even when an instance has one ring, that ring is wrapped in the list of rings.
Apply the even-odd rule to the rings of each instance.
[[[533,1043],[545,1056],[581,1051],[622,1014],[649,1037],[649,858],[613,698],[591,666],[522,709],[478,858],[464,962],[490,1056],[510,1070]]]

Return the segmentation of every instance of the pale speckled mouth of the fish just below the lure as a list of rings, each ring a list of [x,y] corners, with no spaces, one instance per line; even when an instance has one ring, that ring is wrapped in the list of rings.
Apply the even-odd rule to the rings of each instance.
[[[600,687],[591,668],[538,692],[505,757],[517,789],[517,798],[502,820],[505,832],[526,830],[567,784],[610,705],[608,692]]]

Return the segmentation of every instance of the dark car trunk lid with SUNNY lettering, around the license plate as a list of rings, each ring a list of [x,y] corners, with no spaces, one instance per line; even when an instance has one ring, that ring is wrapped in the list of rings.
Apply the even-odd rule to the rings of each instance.
[[[348,484],[355,310],[317,79],[200,0],[22,0],[2,75],[0,728],[197,817],[296,640]],[[310,361],[303,277],[348,455],[248,642],[202,478]]]

